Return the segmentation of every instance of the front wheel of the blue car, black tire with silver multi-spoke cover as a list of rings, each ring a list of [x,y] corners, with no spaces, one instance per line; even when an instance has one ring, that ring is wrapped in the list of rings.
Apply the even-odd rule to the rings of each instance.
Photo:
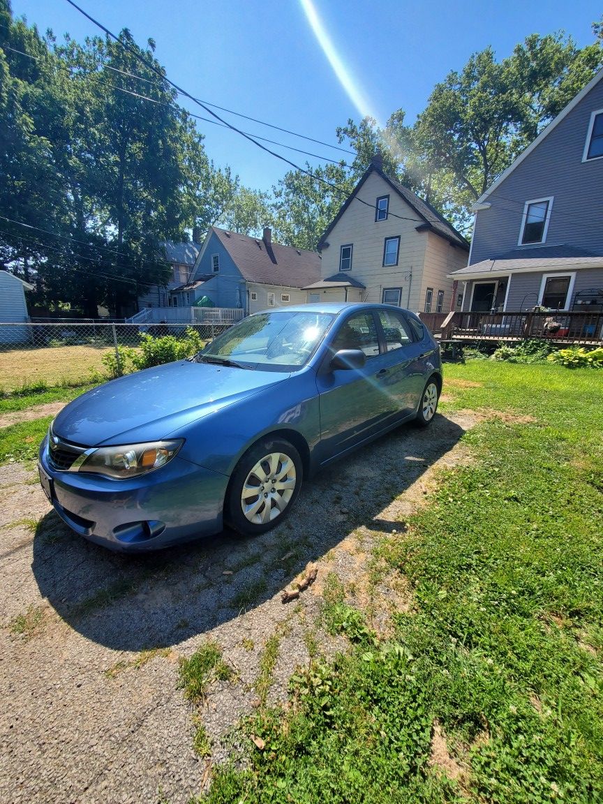
[[[293,507],[302,479],[301,457],[293,444],[280,438],[258,441],[232,473],[224,501],[226,523],[244,536],[276,527]]]

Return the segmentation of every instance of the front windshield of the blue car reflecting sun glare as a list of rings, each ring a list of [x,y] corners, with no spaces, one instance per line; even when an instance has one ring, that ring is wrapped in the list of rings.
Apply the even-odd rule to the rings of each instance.
[[[310,311],[250,315],[215,338],[197,359],[263,371],[296,371],[307,363],[333,320],[333,314]]]

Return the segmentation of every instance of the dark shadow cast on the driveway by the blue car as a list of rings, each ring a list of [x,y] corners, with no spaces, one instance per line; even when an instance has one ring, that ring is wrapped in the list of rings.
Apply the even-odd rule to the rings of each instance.
[[[40,593],[93,642],[130,651],[176,645],[269,600],[361,524],[404,531],[382,512],[464,432],[438,414],[428,429],[388,433],[306,482],[289,518],[255,539],[223,531],[129,556],[80,538],[51,511],[34,538]]]

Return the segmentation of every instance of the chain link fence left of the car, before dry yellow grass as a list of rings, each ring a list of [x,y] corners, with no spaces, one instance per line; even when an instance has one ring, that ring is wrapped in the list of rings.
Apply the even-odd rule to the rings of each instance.
[[[231,324],[0,323],[0,392],[100,382],[149,338],[207,342]],[[126,352],[124,352],[126,350]],[[127,350],[133,350],[128,352]],[[116,371],[117,367],[117,371]]]

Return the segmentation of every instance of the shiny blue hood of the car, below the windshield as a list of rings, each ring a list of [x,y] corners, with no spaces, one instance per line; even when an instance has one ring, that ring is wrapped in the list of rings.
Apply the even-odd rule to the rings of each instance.
[[[55,434],[84,446],[155,441],[289,375],[183,360],[88,391],[59,413]]]

